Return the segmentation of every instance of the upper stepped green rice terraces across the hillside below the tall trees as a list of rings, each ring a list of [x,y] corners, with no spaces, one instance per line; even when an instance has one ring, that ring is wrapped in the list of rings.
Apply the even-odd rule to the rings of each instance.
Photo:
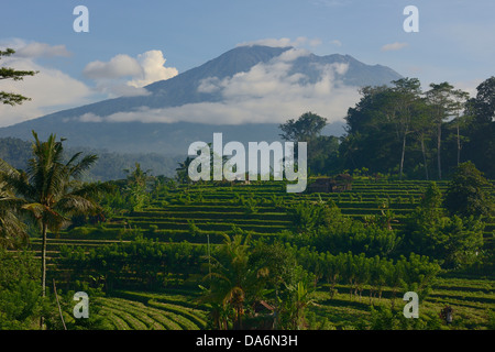
[[[447,183],[438,183],[440,189]],[[125,241],[142,233],[160,241],[220,243],[222,232],[249,231],[252,237],[276,235],[290,229],[287,207],[298,201],[333,200],[342,213],[354,219],[380,215],[385,201],[395,215],[393,227],[404,226],[404,217],[419,204],[428,182],[355,180],[352,190],[334,194],[287,194],[282,183],[257,185],[184,186],[158,195],[142,211],[110,219],[97,227],[76,228],[48,240],[48,255],[56,257],[63,244],[90,248]],[[195,231],[196,230],[196,233]],[[493,246],[495,218],[484,230],[486,246]],[[40,240],[33,239],[34,248]]]

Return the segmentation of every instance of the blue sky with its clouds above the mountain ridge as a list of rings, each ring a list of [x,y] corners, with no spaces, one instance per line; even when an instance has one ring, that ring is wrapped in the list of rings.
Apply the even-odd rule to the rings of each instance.
[[[89,10],[89,33],[73,30],[73,10],[79,4]],[[419,10],[418,33],[403,30],[403,10],[409,4]],[[318,55],[349,54],[418,77],[425,87],[447,80],[473,92],[495,74],[494,13],[493,0],[3,0],[0,47],[14,46],[22,61],[0,64],[44,75],[32,86],[2,82],[0,89],[25,88],[33,102],[15,111],[2,107],[0,125],[114,96],[119,90],[112,91],[117,86],[110,80],[122,77],[97,77],[109,67],[105,63],[120,68],[135,61],[143,69],[150,65],[145,79],[133,77],[139,86],[201,65],[240,43],[262,40],[290,42]],[[30,51],[22,51],[26,46]],[[166,59],[168,74],[156,61],[153,68],[152,58]],[[52,89],[58,92],[56,99],[46,91],[50,79],[59,79]]]

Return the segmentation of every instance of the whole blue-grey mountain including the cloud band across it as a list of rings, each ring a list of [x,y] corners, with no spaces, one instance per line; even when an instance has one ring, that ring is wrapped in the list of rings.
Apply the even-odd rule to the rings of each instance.
[[[282,119],[312,109],[332,120],[342,118],[355,102],[354,88],[388,85],[402,77],[350,55],[292,50],[238,46],[146,86],[148,95],[58,111],[2,128],[0,138],[31,140],[35,130],[41,138],[51,133],[66,138],[72,146],[158,153],[187,150],[186,143],[209,140],[218,130],[231,131],[235,141],[277,140]],[[256,65],[260,69],[253,70]]]

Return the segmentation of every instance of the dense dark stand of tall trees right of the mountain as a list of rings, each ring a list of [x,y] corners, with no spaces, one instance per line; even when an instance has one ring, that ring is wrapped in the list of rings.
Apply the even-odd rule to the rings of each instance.
[[[470,97],[446,81],[424,91],[417,78],[363,87],[340,140],[321,135],[327,119],[312,112],[280,124],[280,136],[308,143],[314,175],[365,168],[399,179],[442,179],[472,161],[494,178],[495,77],[476,89]]]

